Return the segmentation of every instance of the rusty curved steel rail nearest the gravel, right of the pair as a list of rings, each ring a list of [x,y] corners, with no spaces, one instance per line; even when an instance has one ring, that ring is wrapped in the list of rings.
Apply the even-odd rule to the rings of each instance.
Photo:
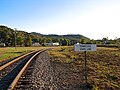
[[[47,49],[46,49],[47,50]],[[34,54],[29,60],[28,62],[24,65],[24,67],[21,69],[21,71],[18,73],[18,75],[15,77],[15,79],[13,80],[13,82],[10,84],[10,86],[8,87],[7,90],[13,90],[14,87],[16,86],[18,80],[20,79],[20,77],[22,76],[22,74],[24,73],[24,71],[27,69],[27,67],[30,65],[31,61],[33,60],[33,58],[35,58],[39,53],[43,52],[45,50],[40,50],[38,51],[36,54]]]

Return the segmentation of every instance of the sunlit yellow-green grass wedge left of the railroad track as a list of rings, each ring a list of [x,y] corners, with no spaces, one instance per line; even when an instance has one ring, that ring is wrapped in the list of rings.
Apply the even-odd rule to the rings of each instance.
[[[20,56],[33,50],[39,50],[46,47],[6,47],[0,48],[0,62]]]

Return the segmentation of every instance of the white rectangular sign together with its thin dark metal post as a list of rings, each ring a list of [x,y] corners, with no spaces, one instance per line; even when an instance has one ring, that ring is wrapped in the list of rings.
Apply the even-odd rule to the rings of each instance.
[[[96,51],[96,44],[75,44],[74,51],[84,52],[85,53],[85,81],[87,83],[87,60],[86,53],[87,51]]]

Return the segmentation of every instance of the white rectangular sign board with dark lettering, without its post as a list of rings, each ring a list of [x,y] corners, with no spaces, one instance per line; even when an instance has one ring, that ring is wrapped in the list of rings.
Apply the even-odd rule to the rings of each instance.
[[[96,44],[75,44],[74,51],[96,51]]]

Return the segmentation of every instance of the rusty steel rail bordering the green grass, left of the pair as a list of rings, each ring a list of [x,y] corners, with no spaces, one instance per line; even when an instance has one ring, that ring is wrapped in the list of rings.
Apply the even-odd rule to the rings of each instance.
[[[18,60],[20,60],[20,59],[26,57],[27,55],[30,55],[30,54],[35,53],[35,52],[37,52],[37,51],[39,51],[39,50],[36,50],[36,51],[30,52],[30,53],[27,53],[27,54],[25,54],[25,55],[22,55],[22,56],[20,56],[20,57],[18,57],[18,58],[16,58],[16,59],[14,59],[14,60],[12,60],[12,61],[6,63],[6,64],[0,66],[0,71],[3,70],[4,68],[8,67],[9,65],[11,65],[11,64],[13,64],[13,63],[15,63],[15,62],[17,62]]]

